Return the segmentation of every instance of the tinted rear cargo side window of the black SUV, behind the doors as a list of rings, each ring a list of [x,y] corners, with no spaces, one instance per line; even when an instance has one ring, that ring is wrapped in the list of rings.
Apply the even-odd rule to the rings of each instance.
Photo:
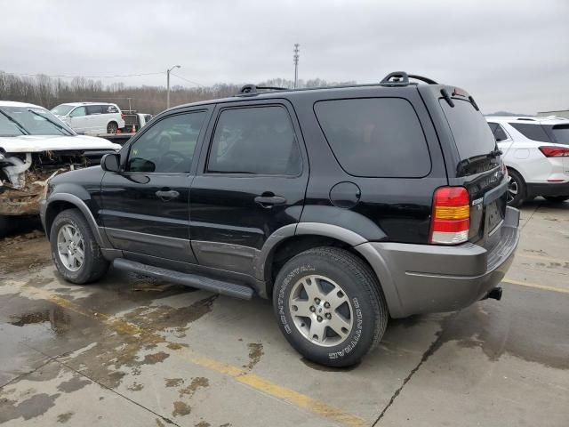
[[[407,178],[429,174],[429,148],[409,101],[319,101],[314,110],[334,156],[347,173]]]

